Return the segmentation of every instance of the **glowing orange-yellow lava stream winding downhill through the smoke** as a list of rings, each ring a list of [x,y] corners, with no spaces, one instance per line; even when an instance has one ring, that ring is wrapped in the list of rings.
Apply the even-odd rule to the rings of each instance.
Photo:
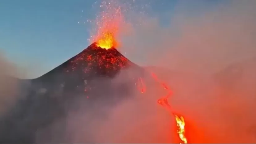
[[[178,114],[175,114],[172,110],[171,110],[171,106],[169,105],[168,103],[168,98],[172,95],[172,91],[169,89],[169,87],[161,82],[156,74],[154,73],[151,73],[152,77],[158,82],[158,83],[161,83],[161,85],[164,87],[164,89],[166,89],[168,91],[168,94],[162,98],[160,98],[157,102],[158,104],[162,105],[162,106],[165,106],[167,108],[167,110],[169,112],[171,112],[171,114],[175,117],[175,121],[176,121],[176,125],[177,125],[177,133],[179,135],[179,138],[181,140],[180,143],[188,143],[187,142],[187,138],[185,137],[185,121],[184,121],[184,118],[183,116],[179,116]],[[139,78],[139,83],[141,83],[141,85],[144,85],[143,84],[143,81],[142,81],[142,78]],[[139,89],[139,88],[138,88]],[[140,88],[143,92],[145,92],[145,89],[143,88]]]

